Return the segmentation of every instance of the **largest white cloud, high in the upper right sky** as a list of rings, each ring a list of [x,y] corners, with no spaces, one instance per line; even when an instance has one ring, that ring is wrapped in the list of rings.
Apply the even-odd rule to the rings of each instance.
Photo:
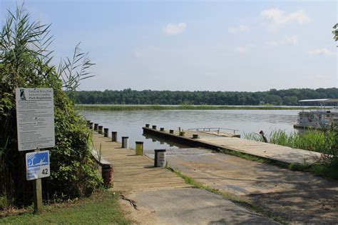
[[[302,10],[298,10],[292,13],[287,13],[280,9],[265,9],[260,12],[262,19],[267,21],[267,25],[271,28],[277,28],[282,24],[298,23],[307,24],[312,21],[307,14]]]

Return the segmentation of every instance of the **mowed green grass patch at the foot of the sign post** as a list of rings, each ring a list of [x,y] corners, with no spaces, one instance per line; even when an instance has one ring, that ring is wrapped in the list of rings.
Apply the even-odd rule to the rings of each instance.
[[[118,204],[120,194],[101,191],[75,203],[51,204],[41,214],[33,209],[0,218],[0,224],[132,224]]]

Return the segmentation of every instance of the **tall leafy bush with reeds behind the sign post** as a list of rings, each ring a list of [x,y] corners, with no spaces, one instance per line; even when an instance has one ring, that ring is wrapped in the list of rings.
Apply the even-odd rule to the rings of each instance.
[[[6,205],[31,204],[24,155],[17,149],[15,89],[48,87],[54,92],[56,146],[50,149],[51,176],[43,179],[46,201],[91,194],[102,179],[88,148],[90,132],[64,89],[72,91],[88,74],[86,54],[76,46],[72,60],[51,66],[49,26],[31,22],[22,8],[9,11],[0,33],[0,196]],[[60,73],[58,73],[58,71]],[[4,200],[6,199],[6,201]]]

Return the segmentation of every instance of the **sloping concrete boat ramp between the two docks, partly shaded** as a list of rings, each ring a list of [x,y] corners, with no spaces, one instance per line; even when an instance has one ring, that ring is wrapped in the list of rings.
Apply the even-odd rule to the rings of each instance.
[[[146,151],[153,157],[152,151]],[[291,223],[337,224],[338,182],[208,149],[170,149],[168,166],[230,199]]]

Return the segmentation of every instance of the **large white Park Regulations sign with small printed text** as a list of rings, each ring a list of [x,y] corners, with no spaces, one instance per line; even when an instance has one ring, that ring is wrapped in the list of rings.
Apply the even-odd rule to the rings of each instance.
[[[53,89],[16,89],[18,149],[55,146]]]

